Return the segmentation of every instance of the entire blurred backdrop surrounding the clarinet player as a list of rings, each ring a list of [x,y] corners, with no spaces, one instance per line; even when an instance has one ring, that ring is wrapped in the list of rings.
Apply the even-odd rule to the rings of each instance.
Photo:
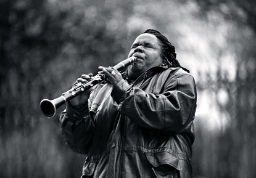
[[[254,0],[0,0],[0,177],[80,177],[55,99],[159,30],[196,79],[196,178],[256,177]]]

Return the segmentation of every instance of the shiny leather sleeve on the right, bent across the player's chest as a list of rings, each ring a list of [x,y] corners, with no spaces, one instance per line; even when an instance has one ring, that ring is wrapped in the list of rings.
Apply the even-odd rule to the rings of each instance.
[[[189,74],[170,75],[159,94],[120,82],[112,91],[112,97],[119,103],[118,111],[148,129],[165,134],[183,132],[196,112],[196,85]]]

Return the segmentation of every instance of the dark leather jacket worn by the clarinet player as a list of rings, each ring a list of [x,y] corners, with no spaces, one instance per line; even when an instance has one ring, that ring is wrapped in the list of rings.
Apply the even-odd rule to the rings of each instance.
[[[81,110],[67,105],[60,125],[85,154],[81,177],[192,177],[194,78],[153,67],[133,83],[99,84]]]

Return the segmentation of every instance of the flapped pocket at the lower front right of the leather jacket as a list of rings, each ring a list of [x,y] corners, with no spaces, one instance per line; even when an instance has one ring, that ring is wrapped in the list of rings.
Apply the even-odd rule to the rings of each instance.
[[[177,171],[182,171],[179,158],[169,152],[146,153],[146,158],[159,177],[176,177]]]

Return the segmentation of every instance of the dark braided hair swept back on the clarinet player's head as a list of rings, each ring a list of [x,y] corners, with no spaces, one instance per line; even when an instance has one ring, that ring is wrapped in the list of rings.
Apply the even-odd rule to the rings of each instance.
[[[180,67],[184,71],[187,71],[189,73],[188,69],[181,67],[180,63],[176,59],[175,47],[171,44],[170,41],[168,41],[168,39],[165,36],[163,36],[163,34],[161,34],[157,30],[152,29],[148,29],[144,31],[144,33],[154,34],[154,36],[156,36],[157,39],[159,39],[160,43],[162,44],[164,65],[168,65],[168,67]]]

